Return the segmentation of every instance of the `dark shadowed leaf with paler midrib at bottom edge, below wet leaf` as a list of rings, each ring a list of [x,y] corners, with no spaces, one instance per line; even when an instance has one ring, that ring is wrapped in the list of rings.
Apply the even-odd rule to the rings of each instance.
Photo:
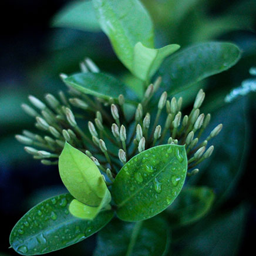
[[[168,225],[161,218],[137,223],[114,220],[100,231],[94,256],[161,256],[169,242]]]

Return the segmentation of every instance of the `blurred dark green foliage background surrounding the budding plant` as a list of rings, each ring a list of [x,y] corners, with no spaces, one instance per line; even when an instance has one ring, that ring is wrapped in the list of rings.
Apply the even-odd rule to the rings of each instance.
[[[248,70],[256,66],[256,1],[142,2],[154,21],[157,47],[178,43],[182,49],[197,42],[229,41],[242,50],[242,58],[233,68],[181,93],[189,102],[203,87],[207,92],[205,108],[215,112],[213,126],[224,122],[228,127],[215,142],[214,161],[205,163],[202,173],[189,183],[209,187],[223,183],[221,193],[228,197],[217,198],[218,210],[177,230],[172,238],[174,255],[242,255],[245,248],[253,249],[256,226],[255,93],[221,107],[227,93],[250,78]],[[33,127],[21,103],[28,95],[40,98],[46,92],[65,90],[59,73],[78,71],[79,62],[86,56],[129,85],[140,83],[114,55],[90,6],[85,1],[3,1],[8,19],[1,17],[0,214],[4,224],[0,255],[15,255],[8,250],[9,233],[29,208],[65,191],[57,167],[42,166],[15,141],[16,133]],[[95,239],[93,236],[52,255],[90,255]]]

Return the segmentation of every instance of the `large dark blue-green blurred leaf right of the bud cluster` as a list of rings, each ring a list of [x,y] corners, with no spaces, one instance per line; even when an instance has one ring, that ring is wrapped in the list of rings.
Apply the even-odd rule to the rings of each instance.
[[[213,156],[201,164],[201,172],[189,181],[213,188],[216,203],[228,196],[244,168],[248,148],[246,106],[246,99],[240,99],[213,113],[205,137],[219,123],[223,123],[223,130],[212,142]]]

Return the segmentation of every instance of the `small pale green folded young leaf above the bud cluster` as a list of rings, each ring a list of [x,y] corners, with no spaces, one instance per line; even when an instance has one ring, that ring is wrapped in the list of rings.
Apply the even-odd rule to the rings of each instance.
[[[156,73],[163,60],[176,52],[179,45],[167,45],[160,49],[151,49],[141,42],[134,46],[132,73],[144,81],[147,81]]]

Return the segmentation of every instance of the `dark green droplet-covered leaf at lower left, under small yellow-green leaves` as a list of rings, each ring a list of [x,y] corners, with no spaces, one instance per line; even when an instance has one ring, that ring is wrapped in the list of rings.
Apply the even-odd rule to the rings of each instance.
[[[73,217],[68,210],[72,200],[69,193],[62,194],[33,207],[13,228],[12,248],[22,255],[46,254],[84,240],[113,218],[112,211],[103,211],[93,221]]]

